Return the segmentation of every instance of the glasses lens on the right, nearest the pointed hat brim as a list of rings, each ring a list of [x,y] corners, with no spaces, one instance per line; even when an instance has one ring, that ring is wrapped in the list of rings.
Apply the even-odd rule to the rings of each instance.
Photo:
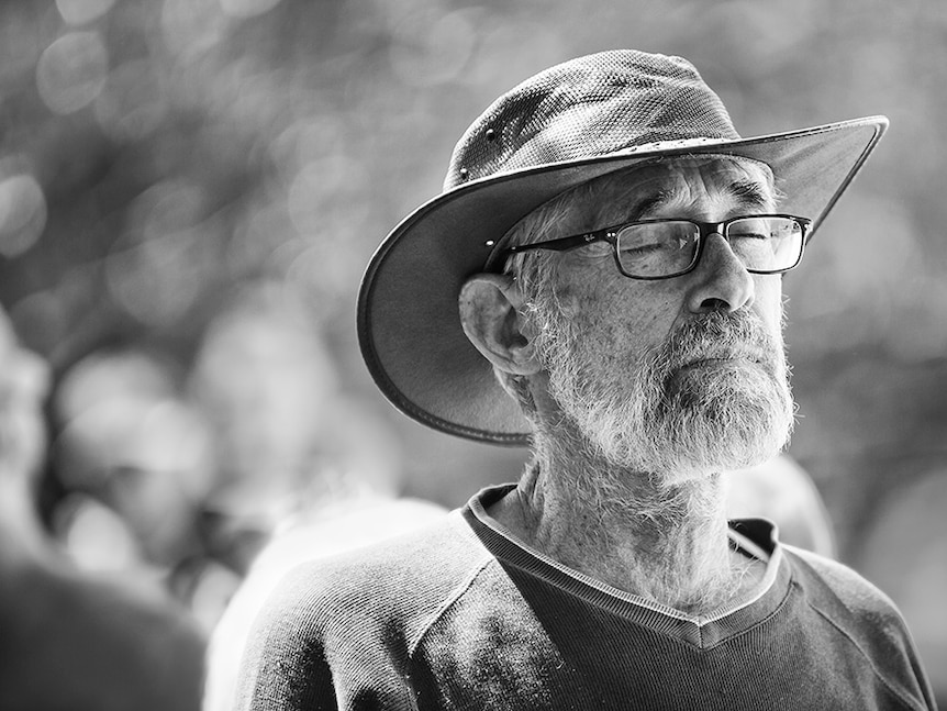
[[[747,269],[781,271],[802,256],[802,225],[791,218],[758,216],[735,220],[726,238]]]

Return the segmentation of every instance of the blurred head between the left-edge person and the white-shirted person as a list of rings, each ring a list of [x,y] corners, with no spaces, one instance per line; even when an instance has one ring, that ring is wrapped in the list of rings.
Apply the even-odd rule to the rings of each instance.
[[[64,375],[53,402],[59,478],[112,508],[156,563],[191,547],[213,470],[207,423],[179,379],[154,353],[100,351]]]

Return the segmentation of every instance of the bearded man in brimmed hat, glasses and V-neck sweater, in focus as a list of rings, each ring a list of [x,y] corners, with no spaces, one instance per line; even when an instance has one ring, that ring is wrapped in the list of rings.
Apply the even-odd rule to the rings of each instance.
[[[243,708],[932,708],[891,602],[728,522],[720,475],[787,442],[780,275],[885,124],[740,138],[690,64],[639,52],[491,105],[372,258],[359,335],[398,408],[531,462],[291,574]]]

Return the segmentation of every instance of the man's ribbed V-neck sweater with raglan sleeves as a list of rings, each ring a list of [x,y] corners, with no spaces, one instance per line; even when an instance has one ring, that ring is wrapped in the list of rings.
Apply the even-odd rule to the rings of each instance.
[[[536,555],[483,513],[298,569],[258,621],[242,709],[934,709],[890,600],[845,566],[782,546],[748,600],[704,618]]]

